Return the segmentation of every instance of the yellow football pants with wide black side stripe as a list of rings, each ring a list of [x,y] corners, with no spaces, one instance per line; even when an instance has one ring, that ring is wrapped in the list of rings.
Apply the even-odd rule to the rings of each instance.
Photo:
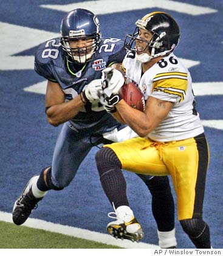
[[[115,152],[122,169],[153,176],[171,175],[179,220],[202,216],[209,161],[204,133],[167,143],[137,137],[105,146]]]

